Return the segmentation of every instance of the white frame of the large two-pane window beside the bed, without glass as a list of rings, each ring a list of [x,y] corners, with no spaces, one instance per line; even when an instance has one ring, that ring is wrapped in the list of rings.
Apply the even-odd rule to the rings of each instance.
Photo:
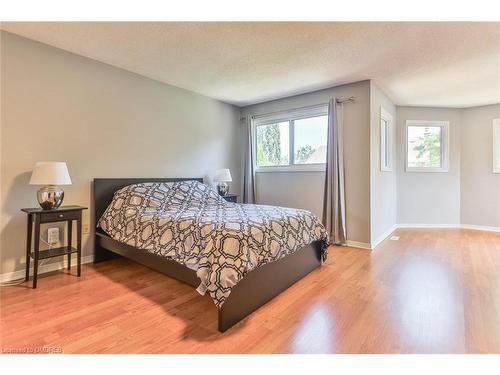
[[[283,112],[276,112],[267,115],[254,116],[252,121],[252,140],[253,140],[253,166],[254,171],[261,172],[324,172],[325,163],[315,164],[293,164],[295,157],[294,144],[294,121],[304,118],[318,117],[328,115],[328,104],[320,104],[311,107],[297,108]],[[289,121],[289,154],[288,165],[262,167],[257,165],[257,127],[261,125],[274,124],[277,122]]]

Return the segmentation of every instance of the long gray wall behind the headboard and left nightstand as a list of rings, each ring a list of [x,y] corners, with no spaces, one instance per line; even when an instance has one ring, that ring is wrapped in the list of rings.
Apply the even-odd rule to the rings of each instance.
[[[89,208],[94,177],[196,177],[228,167],[240,192],[238,108],[13,34],[1,40],[1,273],[24,267],[19,209],[37,206],[28,185],[36,161],[66,161],[73,185],[65,203]]]

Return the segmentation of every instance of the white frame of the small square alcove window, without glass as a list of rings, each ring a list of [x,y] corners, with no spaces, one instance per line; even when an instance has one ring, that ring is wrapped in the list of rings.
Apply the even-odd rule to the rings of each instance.
[[[409,167],[408,166],[408,127],[441,127],[441,167]],[[405,169],[406,172],[449,172],[450,159],[450,122],[449,121],[428,121],[428,120],[406,120],[405,131]]]

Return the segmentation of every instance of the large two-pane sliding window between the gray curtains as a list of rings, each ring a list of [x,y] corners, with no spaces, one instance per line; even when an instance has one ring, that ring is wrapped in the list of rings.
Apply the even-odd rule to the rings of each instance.
[[[256,171],[324,170],[327,132],[326,105],[257,117]]]

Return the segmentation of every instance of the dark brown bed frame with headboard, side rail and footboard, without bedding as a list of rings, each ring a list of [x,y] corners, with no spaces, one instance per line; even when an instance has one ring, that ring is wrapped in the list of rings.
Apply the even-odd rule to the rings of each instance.
[[[100,228],[99,218],[111,203],[114,193],[141,182],[200,181],[202,178],[96,178],[94,179],[94,263],[123,256],[174,279],[197,287],[196,272],[159,255],[116,241]],[[219,331],[224,332],[272,298],[321,265],[321,248],[312,242],[294,254],[249,272],[231,291],[219,309]]]

